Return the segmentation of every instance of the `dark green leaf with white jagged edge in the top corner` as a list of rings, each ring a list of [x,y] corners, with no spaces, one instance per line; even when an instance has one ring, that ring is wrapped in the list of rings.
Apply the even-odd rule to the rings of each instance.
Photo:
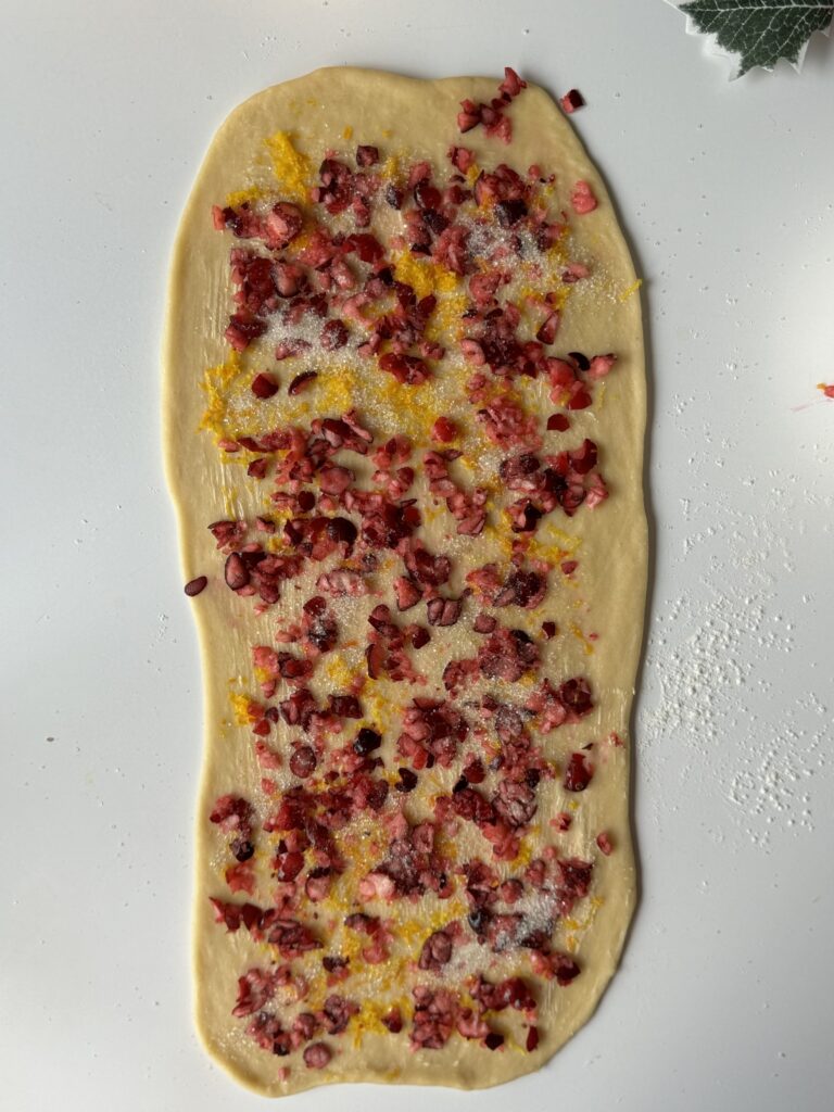
[[[827,33],[834,3],[808,0],[668,0],[688,17],[687,30],[712,36],[734,57],[733,77],[755,66],[772,70],[780,58],[798,69],[814,31]]]

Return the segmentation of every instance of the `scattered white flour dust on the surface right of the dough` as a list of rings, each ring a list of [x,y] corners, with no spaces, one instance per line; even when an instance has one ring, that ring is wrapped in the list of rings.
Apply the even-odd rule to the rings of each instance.
[[[715,510],[707,500],[694,515],[683,503],[685,520],[709,522],[677,562],[699,560],[699,575],[686,576],[694,589],[654,602],[638,775],[659,828],[669,811],[694,812],[723,842],[726,817],[768,851],[777,836],[813,831],[814,776],[832,771],[831,714],[806,685],[830,675],[792,672],[804,632],[785,609],[808,599],[784,589],[796,570],[784,518]]]

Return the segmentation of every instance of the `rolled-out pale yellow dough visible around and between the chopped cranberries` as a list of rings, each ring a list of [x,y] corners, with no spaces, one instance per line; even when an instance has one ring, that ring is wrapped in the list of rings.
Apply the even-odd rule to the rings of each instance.
[[[207,588],[190,603],[200,637],[206,735],[197,812],[196,1014],[212,1058],[238,1081],[266,1095],[277,1096],[338,1081],[479,1088],[538,1069],[594,1011],[618,961],[635,905],[628,721],[642,642],[647,564],[643,507],[645,376],[641,305],[638,296],[634,296],[637,282],[605,186],[572,127],[543,89],[527,88],[507,108],[513,123],[513,140],[508,146],[487,136],[483,127],[463,136],[458,132],[455,120],[459,102],[470,98],[488,103],[495,96],[495,85],[494,79],[487,78],[420,81],[346,68],[319,70],[258,93],[237,108],[216,135],[188,200],[173,254],[165,341],[167,469],[179,518],[186,578],[208,577]],[[456,949],[447,973],[436,977],[417,970],[416,960],[425,937],[438,923],[458,917],[466,931],[467,904],[460,876],[455,877],[456,892],[447,901],[429,893],[414,903],[408,900],[390,905],[380,901],[363,903],[357,894],[358,878],[383,858],[385,837],[379,816],[354,821],[338,834],[346,854],[345,874],[338,878],[328,901],[308,904],[301,916],[325,940],[325,949],[289,962],[294,973],[307,979],[309,994],[299,1004],[292,1001],[291,991],[286,990],[285,996],[279,992],[269,1005],[278,1012],[284,1007],[289,1022],[299,1010],[315,1013],[329,992],[339,992],[359,1004],[358,1014],[344,1033],[334,1037],[322,1032],[316,1035],[312,1041],[326,1042],[332,1056],[326,1068],[309,1069],[301,1050],[276,1056],[258,1046],[246,1033],[251,1016],[231,1014],[238,977],[254,966],[272,969],[281,959],[275,947],[254,941],[242,927],[227,932],[215,921],[209,896],[232,903],[252,900],[260,906],[269,906],[278,887],[270,876],[270,861],[280,835],[266,834],[260,823],[275,810],[281,793],[298,783],[289,772],[287,758],[290,739],[298,738],[299,732],[284,722],[274,724],[270,735],[262,741],[280,755],[282,765],[272,771],[258,764],[252,724],[246,713],[248,701],[262,702],[251,649],[255,645],[281,647],[276,646],[277,626],[284,628],[299,619],[301,604],[317,594],[316,579],[329,564],[308,562],[304,573],[285,585],[281,599],[264,614],[256,613],[257,599],[239,597],[227,587],[225,556],[217,552],[207,526],[218,519],[254,523],[258,515],[271,515],[277,523],[276,536],[280,537],[284,518],[274,512],[275,507],[270,508],[271,480],[258,483],[247,477],[246,463],[252,455],[229,453],[218,447],[218,441],[236,434],[259,435],[270,426],[309,425],[317,415],[339,416],[351,406],[374,433],[374,447],[397,433],[407,434],[417,448],[410,460],[418,471],[411,495],[418,497],[425,510],[418,536],[433,552],[450,556],[453,575],[444,592],[456,597],[465,586],[468,570],[489,560],[506,565],[508,538],[512,540],[513,536],[502,507],[517,497],[504,489],[497,470],[500,460],[512,453],[485,439],[483,427],[473,420],[473,407],[464,393],[473,368],[460,356],[454,339],[448,339],[459,325],[465,279],[441,276],[443,291],[438,297],[448,308],[445,316],[438,314],[437,327],[445,335],[447,355],[436,365],[428,389],[396,386],[389,375],[380,373],[375,359],[357,357],[351,347],[330,356],[325,353],[324,357],[322,353],[314,353],[312,364],[309,359],[305,363],[304,357],[276,363],[275,332],[267,334],[237,357],[224,339],[232,309],[229,250],[251,244],[216,230],[211,207],[241,203],[246,198],[257,206],[266,197],[270,203],[289,200],[308,211],[308,190],[318,180],[325,151],[329,149],[335,157],[354,165],[357,143],[377,146],[379,169],[391,178],[407,173],[417,160],[427,159],[435,179],[445,181],[454,172],[447,151],[455,143],[471,150],[477,166],[484,169],[507,162],[526,175],[527,168],[536,163],[543,176],[555,175],[547,196],[553,219],[562,219],[564,212],[569,225],[566,240],[569,260],[579,261],[589,270],[589,277],[563,290],[562,322],[553,353],[616,354],[614,370],[594,385],[594,404],[568,413],[569,431],[544,433],[547,416],[558,409],[549,399],[547,381],[539,377],[516,385],[525,408],[539,419],[545,441],[543,453],[576,448],[584,437],[597,444],[609,497],[593,509],[582,507],[569,519],[558,509],[548,515],[536,533],[536,552],[553,567],[545,600],[535,610],[512,607],[512,620],[506,610],[495,614],[503,623],[524,628],[536,639],[542,655],[539,676],[550,677],[554,684],[570,676],[587,677],[594,693],[594,709],[577,723],[534,736],[534,743],[553,763],[556,775],[544,778],[538,787],[533,832],[525,835],[515,862],[493,860],[489,845],[471,824],[463,824],[466,828],[456,838],[446,841],[454,843],[447,845],[449,860],[457,855],[460,861],[469,853],[477,853],[502,877],[523,875],[526,864],[545,845],[555,846],[559,856],[592,861],[594,873],[590,894],[559,920],[554,933],[554,946],[569,953],[582,969],[569,985],[559,986],[555,980],[536,976],[523,949],[490,955],[488,947],[478,946],[471,935],[465,946]],[[583,216],[575,215],[570,206],[570,192],[577,181],[588,182],[598,200],[598,207]],[[380,221],[387,221],[388,235],[396,230],[391,224],[395,219],[393,211],[379,217]],[[376,227],[373,224],[368,230]],[[383,238],[381,231],[379,235]],[[419,274],[425,278],[429,271],[420,270],[420,261],[409,259],[406,252],[398,264],[398,278],[419,284],[423,279],[415,277]],[[437,279],[437,271],[433,274]],[[430,286],[430,278],[425,280]],[[539,287],[525,292],[543,291],[544,287]],[[458,301],[454,300],[456,297]],[[318,383],[308,391],[290,396],[287,388],[292,375],[314,364],[319,370]],[[279,391],[267,403],[254,401],[246,390],[235,393],[235,384],[248,383],[256,371],[275,373],[279,380]],[[266,425],[265,406],[271,407]],[[455,534],[455,519],[441,500],[437,503],[428,496],[420,471],[420,453],[437,447],[427,433],[440,409],[463,430],[458,446],[467,466],[457,464],[456,476],[463,477],[467,487],[483,484],[489,489],[489,524],[479,537]],[[355,471],[357,485],[367,486],[373,466],[367,459],[344,455],[344,464]],[[250,529],[247,540],[264,542],[265,537]],[[565,574],[560,568],[569,560],[576,560],[578,566]],[[373,606],[386,603],[394,619],[403,625],[409,620],[425,624],[423,605],[419,615],[417,608],[397,614],[391,578],[400,573],[398,560],[384,560],[371,577],[371,595],[328,599],[337,614],[340,638],[337,648],[317,663],[309,682],[318,698],[326,702],[328,692],[345,691],[346,677],[363,672],[367,614]],[[474,596],[468,596],[461,620],[450,628],[431,628],[430,645],[410,654],[426,677],[419,694],[446,696],[441,683],[444,665],[453,657],[471,656],[483,643],[483,636],[471,632],[471,618],[481,608]],[[547,620],[558,627],[550,639],[542,638],[540,633],[542,623]],[[351,639],[358,647],[345,647],[345,641]],[[520,688],[520,697],[534,689],[524,684],[516,686]],[[496,687],[500,688],[499,694],[509,689],[500,683],[479,681],[466,694],[475,697],[483,689]],[[290,691],[285,685],[272,702],[277,703]],[[366,718],[346,722],[345,732],[332,738],[334,744],[347,744],[356,728],[373,723],[384,736],[379,755],[393,783],[397,767],[407,763],[397,755],[396,741],[403,708],[414,694],[407,684],[385,678],[368,682],[360,695]],[[488,726],[477,711],[465,713],[473,728]],[[595,768],[594,778],[585,792],[570,795],[563,787],[566,763],[572,753],[582,752],[589,743],[594,745],[588,754]],[[470,736],[467,752],[474,746]],[[460,763],[424,772],[420,782],[425,777],[427,783],[430,777],[435,793],[448,793],[460,775]],[[265,778],[271,781],[271,795],[265,792]],[[228,837],[208,818],[215,801],[228,793],[250,801],[257,815],[254,896],[229,891],[225,872],[234,865],[234,860],[229,857]],[[428,796],[428,787],[414,795],[391,791],[386,811],[404,805],[411,822],[431,817]],[[550,820],[566,808],[573,821],[568,831],[558,832]],[[598,847],[596,840],[600,833],[608,838],[609,855]],[[361,967],[357,960],[354,975],[328,989],[320,959],[349,946],[344,917],[350,910],[373,911],[384,920],[401,919],[405,912],[405,920],[394,932],[388,962]],[[489,967],[493,959],[497,962],[494,971]],[[478,971],[494,980],[517,972],[529,982],[538,1000],[537,1048],[532,1052],[525,1050],[523,1017],[507,1010],[494,1016],[493,1025],[506,1035],[498,1050],[490,1051],[481,1042],[457,1033],[441,1049],[411,1049],[413,984],[443,985],[446,979],[457,989],[467,975]],[[397,1035],[387,1032],[379,1022],[384,1009],[395,1000],[401,1004],[405,1020],[403,1032]]]

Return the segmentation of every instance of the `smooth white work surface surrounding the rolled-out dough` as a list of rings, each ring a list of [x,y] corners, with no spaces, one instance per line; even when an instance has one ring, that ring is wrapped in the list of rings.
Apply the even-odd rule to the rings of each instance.
[[[7,6],[0,1078],[14,1112],[242,1112],[189,1003],[195,633],[160,467],[178,215],[217,125],[320,64],[505,63],[588,107],[647,291],[643,900],[594,1020],[479,1094],[304,1110],[832,1106],[834,48],[727,81],[661,0]],[[616,558],[616,553],[612,554]]]

